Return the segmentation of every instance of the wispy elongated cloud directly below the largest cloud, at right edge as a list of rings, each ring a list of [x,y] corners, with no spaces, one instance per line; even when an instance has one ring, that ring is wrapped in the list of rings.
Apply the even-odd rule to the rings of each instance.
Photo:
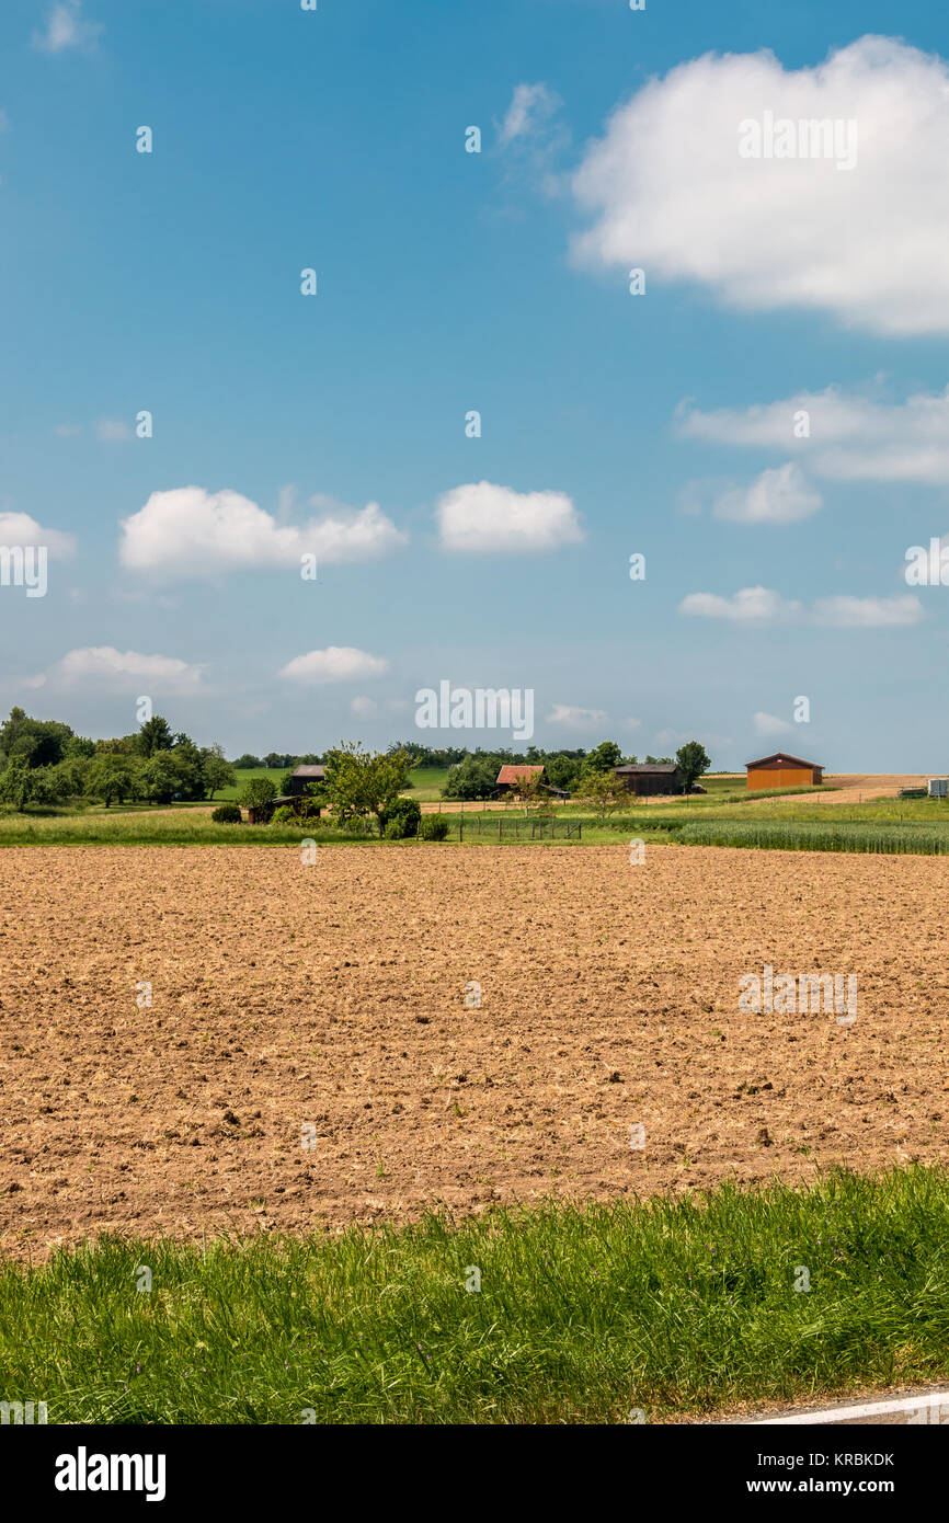
[[[794,437],[807,414],[809,437]],[[807,469],[836,481],[949,481],[949,387],[888,404],[836,387],[745,408],[685,410],[678,433],[714,445],[797,449]]]

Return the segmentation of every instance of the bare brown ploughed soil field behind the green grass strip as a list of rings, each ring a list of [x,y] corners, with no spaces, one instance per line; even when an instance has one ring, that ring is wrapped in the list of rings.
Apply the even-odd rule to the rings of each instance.
[[[6,1252],[949,1157],[944,859],[657,845],[637,867],[625,844],[411,844],[326,847],[312,867],[279,847],[0,860]],[[742,1014],[739,975],[765,963],[856,973],[856,1022]]]

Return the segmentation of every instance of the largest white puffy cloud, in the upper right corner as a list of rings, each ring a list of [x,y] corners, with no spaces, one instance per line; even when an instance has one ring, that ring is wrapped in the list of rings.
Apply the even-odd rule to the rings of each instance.
[[[743,122],[858,125],[850,172],[746,158]],[[748,311],[809,308],[879,334],[949,332],[949,70],[862,37],[812,69],[769,52],[679,64],[606,123],[573,178],[580,260],[701,282]]]

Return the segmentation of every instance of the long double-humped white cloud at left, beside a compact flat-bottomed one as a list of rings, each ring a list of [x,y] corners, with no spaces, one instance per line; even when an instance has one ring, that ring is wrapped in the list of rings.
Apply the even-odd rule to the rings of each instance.
[[[299,567],[306,553],[315,554],[317,565],[370,560],[408,538],[378,503],[291,525],[277,524],[239,492],[204,492],[198,486],[152,492],[143,509],[122,521],[122,565],[180,576]]]

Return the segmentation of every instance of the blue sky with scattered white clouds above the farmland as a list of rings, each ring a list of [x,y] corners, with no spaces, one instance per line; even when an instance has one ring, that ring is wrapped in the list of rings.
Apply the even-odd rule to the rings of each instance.
[[[532,688],[541,745],[944,771],[905,553],[949,530],[949,21],[893,24],[6,0],[0,542],[50,562],[0,586],[0,705],[510,743],[416,730],[449,679]],[[742,158],[765,113],[856,163]]]

